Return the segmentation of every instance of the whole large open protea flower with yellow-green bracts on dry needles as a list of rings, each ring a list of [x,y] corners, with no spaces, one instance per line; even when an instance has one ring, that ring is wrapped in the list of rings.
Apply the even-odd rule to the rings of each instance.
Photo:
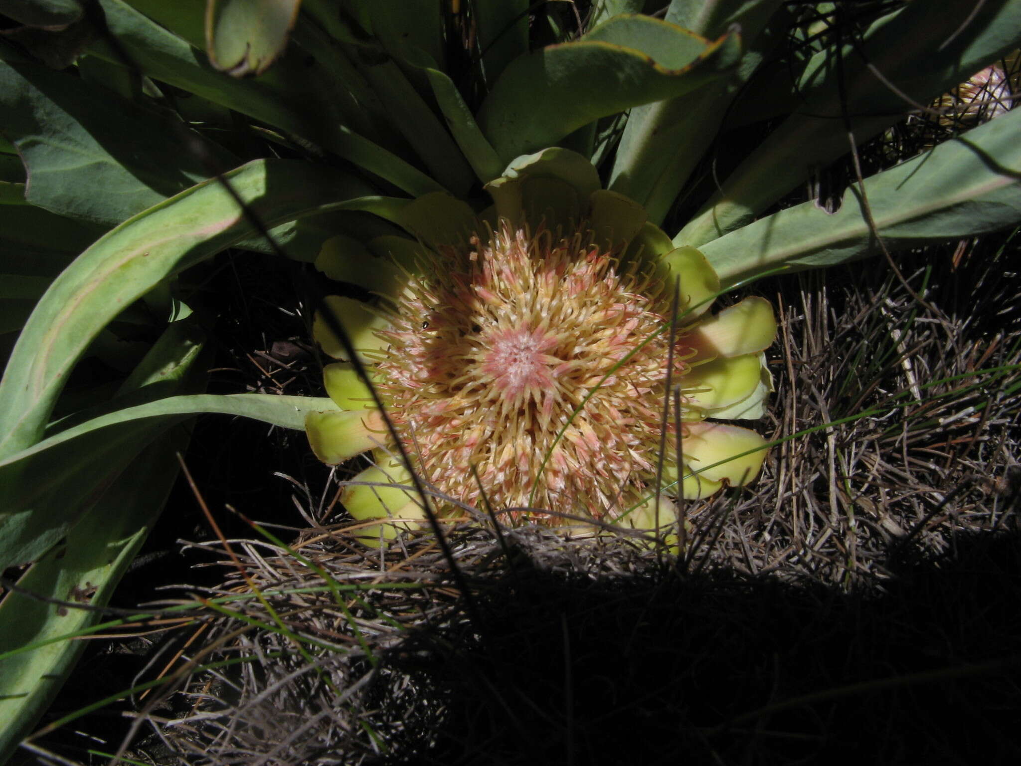
[[[769,303],[746,298],[711,316],[720,282],[704,257],[600,189],[581,155],[521,157],[486,188],[495,204],[479,214],[428,195],[400,218],[417,240],[370,243],[385,256],[372,267],[377,304],[328,299],[439,512],[488,504],[510,519],[647,528],[669,495],[753,479],[764,439],[708,419],[762,415],[762,352],[776,334]],[[330,247],[318,261],[338,279],[350,264]],[[313,332],[343,357],[322,317]],[[308,417],[315,453],[337,464],[374,449],[344,506],[356,519],[421,519],[407,467],[350,361],[327,366],[325,378],[340,410]],[[363,534],[381,529],[395,534],[391,523]]]

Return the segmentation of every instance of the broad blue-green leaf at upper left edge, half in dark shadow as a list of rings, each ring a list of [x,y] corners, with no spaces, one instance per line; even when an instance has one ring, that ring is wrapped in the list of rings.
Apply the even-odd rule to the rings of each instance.
[[[28,167],[28,201],[99,225],[237,164],[183,124],[44,66],[0,62],[0,127]],[[215,166],[196,158],[195,143]]]

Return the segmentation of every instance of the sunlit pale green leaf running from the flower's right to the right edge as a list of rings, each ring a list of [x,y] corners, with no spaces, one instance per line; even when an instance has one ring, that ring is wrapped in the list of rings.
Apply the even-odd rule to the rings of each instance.
[[[889,249],[955,240],[1021,220],[1021,110],[865,180]],[[700,248],[724,286],[779,266],[831,266],[877,252],[858,186],[835,213],[805,202]]]

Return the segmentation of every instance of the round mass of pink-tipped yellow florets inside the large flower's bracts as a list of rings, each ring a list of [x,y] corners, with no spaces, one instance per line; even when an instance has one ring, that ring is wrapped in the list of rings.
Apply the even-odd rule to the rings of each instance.
[[[504,224],[441,249],[398,299],[377,362],[424,477],[475,506],[484,493],[497,509],[622,513],[653,480],[663,434],[661,286],[581,235]],[[676,342],[674,382],[691,354]]]

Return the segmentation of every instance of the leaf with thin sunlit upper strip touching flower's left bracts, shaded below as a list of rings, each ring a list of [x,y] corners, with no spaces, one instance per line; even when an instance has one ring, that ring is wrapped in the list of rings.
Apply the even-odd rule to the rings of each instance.
[[[131,458],[194,415],[233,415],[300,430],[310,412],[337,410],[329,398],[272,394],[185,394],[114,410],[0,460],[0,569],[56,543],[85,508],[61,498],[98,499]],[[42,513],[40,511],[43,511]]]

